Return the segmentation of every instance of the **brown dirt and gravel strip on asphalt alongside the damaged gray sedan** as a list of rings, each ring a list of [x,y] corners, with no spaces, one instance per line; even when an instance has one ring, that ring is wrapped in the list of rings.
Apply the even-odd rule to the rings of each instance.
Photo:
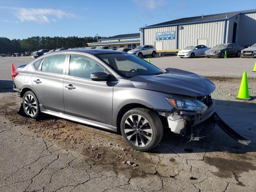
[[[0,99],[2,102],[4,98]],[[91,162],[91,165],[104,165],[106,169],[122,173],[128,178],[153,174],[157,160],[149,158],[153,153],[142,153],[132,149],[118,133],[92,128],[76,122],[42,114],[39,120],[26,119],[16,114],[22,102],[12,94],[5,105],[0,106],[0,115],[5,116],[15,125],[25,125],[26,129],[38,136],[79,154]],[[124,161],[138,166],[123,164]]]

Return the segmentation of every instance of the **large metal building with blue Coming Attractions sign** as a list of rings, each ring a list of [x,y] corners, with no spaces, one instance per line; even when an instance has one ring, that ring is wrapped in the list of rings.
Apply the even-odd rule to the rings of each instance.
[[[181,18],[140,28],[140,43],[157,50],[183,49],[194,44],[256,43],[256,9]]]

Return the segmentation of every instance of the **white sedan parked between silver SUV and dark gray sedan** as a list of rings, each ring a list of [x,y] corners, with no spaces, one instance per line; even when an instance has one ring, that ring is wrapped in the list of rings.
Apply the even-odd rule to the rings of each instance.
[[[210,49],[210,47],[207,47],[205,45],[191,45],[188,46],[178,52],[178,57],[198,57],[198,56],[204,56],[204,52],[206,50]]]

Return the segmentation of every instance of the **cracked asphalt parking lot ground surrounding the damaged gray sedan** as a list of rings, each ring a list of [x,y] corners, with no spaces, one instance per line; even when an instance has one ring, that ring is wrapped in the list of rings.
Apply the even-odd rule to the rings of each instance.
[[[256,191],[255,59],[150,58],[161,69],[210,78],[218,114],[252,141],[242,145],[216,126],[210,137],[190,143],[164,132],[151,152],[133,150],[117,133],[48,115],[33,121],[16,114],[22,100],[12,92],[11,64],[32,60],[0,58],[0,191]],[[236,99],[244,71],[250,101]]]

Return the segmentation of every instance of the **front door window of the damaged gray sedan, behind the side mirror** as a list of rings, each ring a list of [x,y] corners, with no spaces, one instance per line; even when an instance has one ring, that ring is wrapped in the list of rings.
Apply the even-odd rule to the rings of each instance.
[[[105,72],[110,74],[104,67],[95,61],[79,55],[70,56],[69,75],[90,79],[95,72]]]

